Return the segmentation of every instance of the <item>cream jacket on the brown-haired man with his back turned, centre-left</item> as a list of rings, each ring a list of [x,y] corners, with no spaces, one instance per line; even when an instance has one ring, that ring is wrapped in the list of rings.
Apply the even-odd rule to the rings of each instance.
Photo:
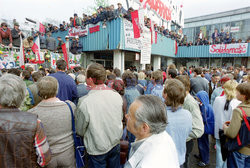
[[[121,96],[107,86],[103,90],[91,90],[79,100],[76,130],[84,137],[88,154],[105,154],[120,143],[122,104]]]

